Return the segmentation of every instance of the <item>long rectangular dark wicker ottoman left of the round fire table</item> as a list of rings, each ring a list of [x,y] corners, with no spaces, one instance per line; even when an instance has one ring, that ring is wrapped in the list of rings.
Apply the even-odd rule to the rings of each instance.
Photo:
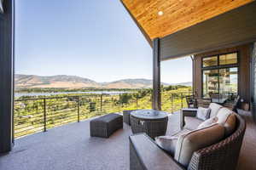
[[[90,136],[108,138],[119,128],[123,128],[123,116],[111,113],[90,121]]]

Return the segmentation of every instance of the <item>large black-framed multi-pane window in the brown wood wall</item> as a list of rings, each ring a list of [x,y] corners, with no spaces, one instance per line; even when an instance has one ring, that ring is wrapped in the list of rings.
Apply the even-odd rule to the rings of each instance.
[[[232,95],[238,89],[237,53],[221,54],[202,59],[202,94]]]

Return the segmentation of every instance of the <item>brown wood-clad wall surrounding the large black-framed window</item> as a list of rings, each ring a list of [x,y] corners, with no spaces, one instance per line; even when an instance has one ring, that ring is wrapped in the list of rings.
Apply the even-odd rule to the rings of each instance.
[[[195,77],[193,85],[195,87],[195,95],[199,98],[202,97],[202,71],[201,71],[201,58],[215,55],[238,52],[238,94],[245,102],[250,101],[250,45],[241,45],[235,48],[225,48],[204,54],[195,55]]]

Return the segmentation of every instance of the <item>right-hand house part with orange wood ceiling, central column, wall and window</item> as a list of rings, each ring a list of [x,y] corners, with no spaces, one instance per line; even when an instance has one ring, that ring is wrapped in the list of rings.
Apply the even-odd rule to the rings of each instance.
[[[255,115],[254,1],[123,0],[122,3],[153,47],[154,109],[160,109],[160,63],[191,56],[197,98],[239,94]]]

